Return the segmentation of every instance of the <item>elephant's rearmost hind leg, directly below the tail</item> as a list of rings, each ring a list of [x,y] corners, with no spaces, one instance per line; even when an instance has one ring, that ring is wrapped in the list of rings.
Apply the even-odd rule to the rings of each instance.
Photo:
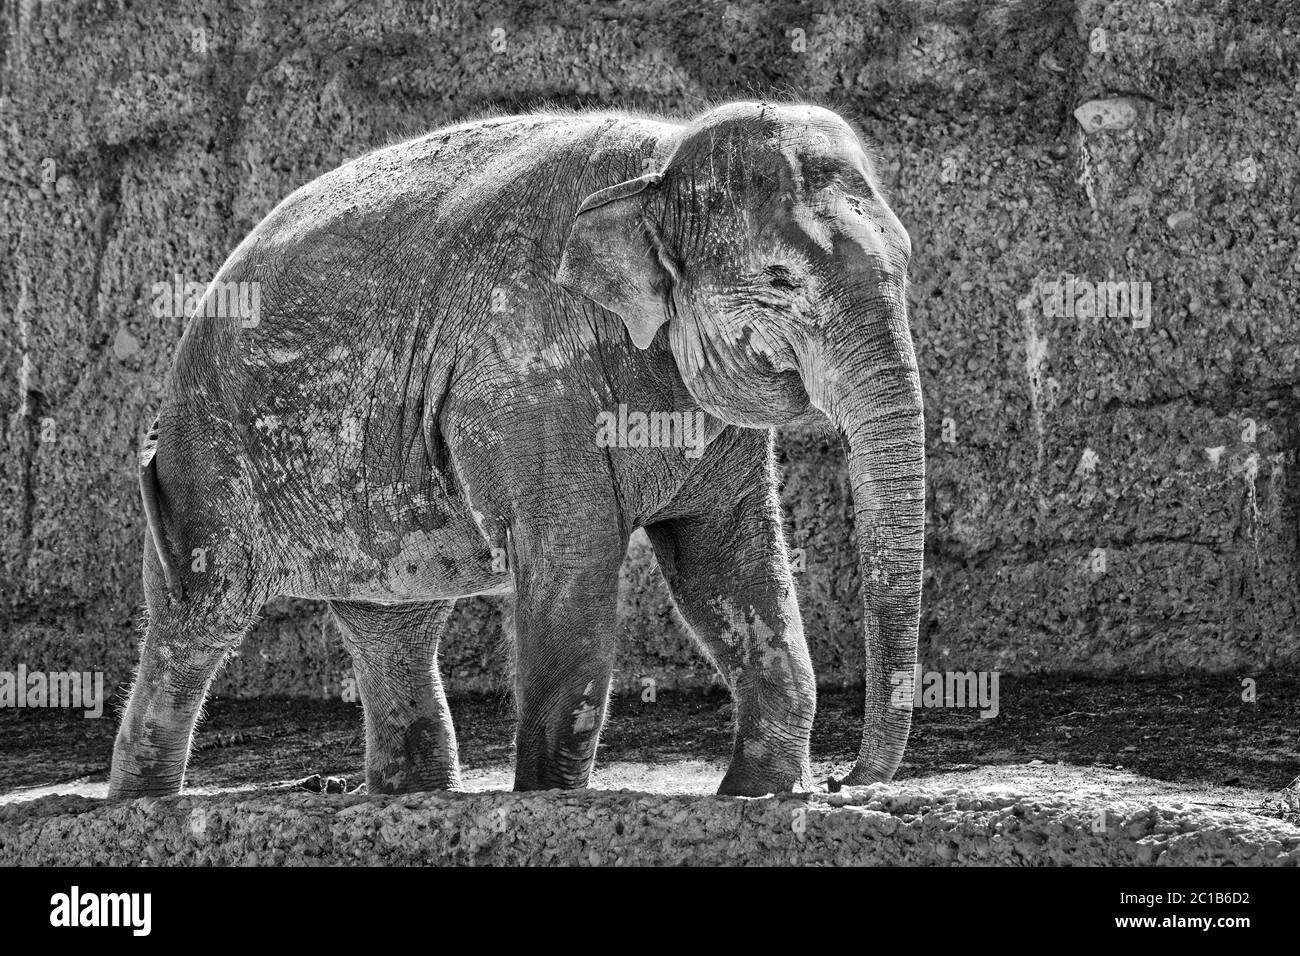
[[[147,546],[148,627],[113,745],[110,800],[181,791],[208,685],[257,613],[247,592],[226,579],[209,587],[191,581],[177,600],[166,597],[161,575],[157,554]]]

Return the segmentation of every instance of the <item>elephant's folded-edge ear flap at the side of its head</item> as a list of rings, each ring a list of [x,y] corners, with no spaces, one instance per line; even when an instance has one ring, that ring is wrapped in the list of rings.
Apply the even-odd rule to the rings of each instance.
[[[602,189],[578,207],[555,281],[623,317],[638,349],[668,320],[677,269],[646,216],[658,174]]]

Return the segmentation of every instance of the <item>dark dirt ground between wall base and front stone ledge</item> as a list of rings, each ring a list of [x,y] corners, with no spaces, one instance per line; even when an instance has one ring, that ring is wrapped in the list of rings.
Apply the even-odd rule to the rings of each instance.
[[[919,709],[898,779],[1022,793],[1097,790],[1130,799],[1231,808],[1296,823],[1283,788],[1300,773],[1300,676],[1257,679],[1242,701],[1232,676],[1100,680],[1004,678],[1000,714]],[[823,692],[812,758],[816,779],[842,771],[857,749],[858,692]],[[508,790],[508,696],[452,701],[465,786]],[[292,787],[313,774],[363,779],[358,704],[216,700],[200,726],[188,790]],[[0,711],[0,803],[51,793],[103,796],[116,719],[55,710]],[[594,787],[712,792],[731,747],[722,693],[616,697]],[[1294,797],[1291,797],[1294,800]]]

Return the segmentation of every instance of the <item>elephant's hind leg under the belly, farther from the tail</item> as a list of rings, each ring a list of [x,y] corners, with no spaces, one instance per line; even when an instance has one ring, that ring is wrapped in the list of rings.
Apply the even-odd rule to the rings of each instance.
[[[437,661],[455,606],[330,601],[361,693],[372,793],[460,788],[456,735]]]

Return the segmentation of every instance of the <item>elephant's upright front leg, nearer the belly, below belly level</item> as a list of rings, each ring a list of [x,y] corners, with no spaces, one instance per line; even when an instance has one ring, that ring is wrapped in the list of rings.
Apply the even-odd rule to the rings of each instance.
[[[627,541],[515,540],[515,790],[588,784],[614,669]]]

